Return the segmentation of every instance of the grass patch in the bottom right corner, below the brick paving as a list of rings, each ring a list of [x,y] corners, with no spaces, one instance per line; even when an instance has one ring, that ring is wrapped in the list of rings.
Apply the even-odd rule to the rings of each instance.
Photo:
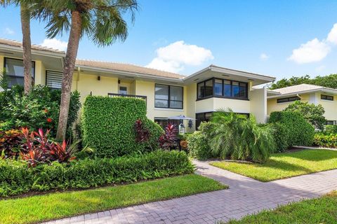
[[[227,224],[251,223],[337,223],[337,191],[319,197],[278,207],[273,211],[261,211],[258,214],[230,221]]]

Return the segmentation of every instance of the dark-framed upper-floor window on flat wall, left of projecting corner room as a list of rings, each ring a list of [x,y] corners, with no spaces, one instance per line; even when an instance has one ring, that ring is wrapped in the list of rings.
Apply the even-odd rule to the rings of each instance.
[[[183,109],[183,87],[156,84],[154,107]]]

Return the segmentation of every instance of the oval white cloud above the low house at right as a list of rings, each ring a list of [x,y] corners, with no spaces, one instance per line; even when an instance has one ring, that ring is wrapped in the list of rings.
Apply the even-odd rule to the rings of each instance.
[[[330,50],[330,46],[325,41],[319,41],[315,38],[294,49],[293,54],[288,59],[298,64],[319,62],[328,55]]]

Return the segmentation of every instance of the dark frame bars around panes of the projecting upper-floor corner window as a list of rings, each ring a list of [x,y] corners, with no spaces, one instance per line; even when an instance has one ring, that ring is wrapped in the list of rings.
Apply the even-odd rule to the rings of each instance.
[[[223,92],[222,92],[222,95],[217,95],[216,94],[216,79],[218,80],[222,80],[222,85],[223,85]],[[209,81],[209,80],[213,80],[213,94],[211,96],[207,96],[207,97],[204,97],[201,96],[199,97],[199,84],[201,83],[204,83],[204,89],[205,89],[205,86],[206,86],[206,82]],[[225,87],[224,87],[224,82],[225,81],[229,81],[230,82],[230,97],[227,97],[225,96]],[[246,85],[246,94],[244,97],[234,97],[233,96],[233,91],[232,91],[232,83],[235,82],[235,83],[239,83],[239,87],[240,87],[240,84],[244,83]],[[205,93],[205,91],[203,91],[203,93]],[[246,82],[241,82],[241,81],[237,81],[237,80],[230,80],[230,79],[225,79],[225,78],[209,78],[209,79],[206,79],[202,82],[199,82],[197,83],[197,101],[198,100],[202,100],[202,99],[209,99],[209,98],[213,98],[213,97],[216,97],[216,98],[224,98],[224,99],[239,99],[239,100],[249,100],[249,83],[246,83]]]

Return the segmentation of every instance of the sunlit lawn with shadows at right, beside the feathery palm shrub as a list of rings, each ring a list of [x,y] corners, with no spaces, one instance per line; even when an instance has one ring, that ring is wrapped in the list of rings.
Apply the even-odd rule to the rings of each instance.
[[[240,162],[211,162],[211,165],[230,172],[249,176],[258,181],[274,181],[337,168],[337,151],[323,149],[293,153],[275,153],[268,162],[251,164]]]

